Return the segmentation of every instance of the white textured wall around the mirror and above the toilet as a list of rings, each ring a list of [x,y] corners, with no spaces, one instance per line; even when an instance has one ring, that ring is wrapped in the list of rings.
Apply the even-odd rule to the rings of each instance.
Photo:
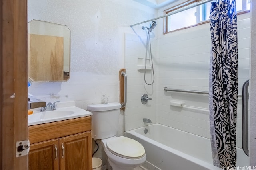
[[[29,93],[46,102],[74,100],[83,109],[86,104],[101,103],[103,95],[108,102],[118,102],[124,33],[133,32],[130,25],[154,13],[132,0],[28,0],[28,21],[58,23],[71,30],[71,78],[32,82]]]

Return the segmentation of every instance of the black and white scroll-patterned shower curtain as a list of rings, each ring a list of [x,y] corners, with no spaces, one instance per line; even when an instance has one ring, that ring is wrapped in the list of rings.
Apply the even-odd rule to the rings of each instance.
[[[214,0],[210,11],[209,110],[215,166],[236,166],[237,18],[235,0]]]

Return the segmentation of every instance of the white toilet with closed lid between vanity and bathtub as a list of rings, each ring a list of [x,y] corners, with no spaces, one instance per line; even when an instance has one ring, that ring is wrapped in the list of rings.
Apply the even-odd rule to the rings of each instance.
[[[128,137],[116,137],[120,103],[87,106],[92,112],[92,138],[101,139],[113,170],[133,170],[146,161],[144,147]]]

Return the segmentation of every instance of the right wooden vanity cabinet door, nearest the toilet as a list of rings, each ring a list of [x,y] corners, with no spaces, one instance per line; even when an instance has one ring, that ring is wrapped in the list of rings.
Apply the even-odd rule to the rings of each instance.
[[[59,139],[60,170],[92,170],[91,131]]]

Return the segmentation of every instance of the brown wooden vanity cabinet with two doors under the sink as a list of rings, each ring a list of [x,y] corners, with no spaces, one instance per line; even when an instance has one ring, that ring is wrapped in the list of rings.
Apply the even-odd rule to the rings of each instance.
[[[29,170],[92,170],[91,116],[28,129]]]

